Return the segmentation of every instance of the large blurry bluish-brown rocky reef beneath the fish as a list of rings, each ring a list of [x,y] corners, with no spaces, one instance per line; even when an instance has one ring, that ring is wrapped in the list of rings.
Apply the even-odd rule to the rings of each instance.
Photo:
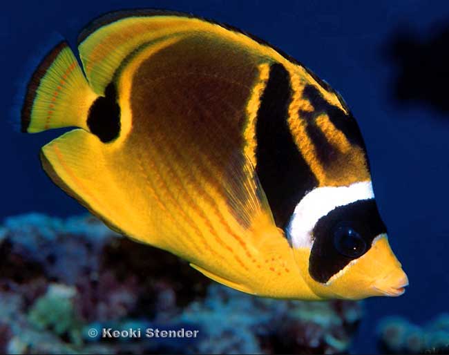
[[[90,215],[0,227],[2,353],[336,354],[361,315],[357,302],[242,294]]]

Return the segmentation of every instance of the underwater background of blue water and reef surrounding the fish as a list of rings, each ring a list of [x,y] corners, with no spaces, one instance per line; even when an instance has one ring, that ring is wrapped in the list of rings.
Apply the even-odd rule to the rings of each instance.
[[[91,19],[129,8],[229,23],[341,93],[363,133],[376,201],[410,279],[403,296],[302,303],[243,295],[116,236],[50,182],[38,154],[61,131],[19,133],[17,90],[55,32],[75,48]],[[11,1],[0,29],[0,350],[449,352],[447,1]],[[86,334],[158,326],[204,335],[175,342]]]

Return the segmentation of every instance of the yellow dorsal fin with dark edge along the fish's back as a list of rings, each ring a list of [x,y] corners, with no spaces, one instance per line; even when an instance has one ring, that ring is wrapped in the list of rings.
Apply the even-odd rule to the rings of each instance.
[[[209,32],[231,39],[237,46],[258,53],[265,61],[298,66],[304,75],[312,79],[312,73],[302,64],[254,35],[225,23],[164,10],[126,10],[99,17],[79,35],[79,56],[90,86],[95,93],[102,95],[123,62],[140,49],[157,41],[194,32]],[[316,76],[313,75],[313,78],[315,80]]]

